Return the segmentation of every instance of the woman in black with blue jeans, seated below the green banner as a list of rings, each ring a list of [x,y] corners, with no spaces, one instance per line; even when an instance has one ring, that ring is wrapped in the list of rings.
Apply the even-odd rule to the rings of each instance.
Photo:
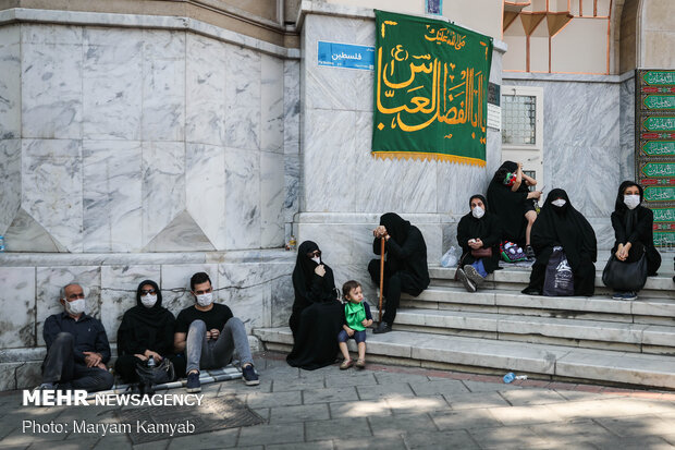
[[[488,212],[488,202],[482,195],[469,198],[471,211],[459,220],[457,242],[462,247],[462,258],[457,267],[457,278],[468,292],[476,292],[488,273],[500,265],[500,223],[496,216]],[[489,248],[490,256],[474,256],[471,251]]]

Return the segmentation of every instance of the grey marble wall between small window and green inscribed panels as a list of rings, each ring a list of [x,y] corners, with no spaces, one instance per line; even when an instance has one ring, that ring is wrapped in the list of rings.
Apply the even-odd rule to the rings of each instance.
[[[532,78],[536,75],[531,76]],[[564,188],[611,248],[610,215],[622,180],[633,179],[633,81],[579,76],[504,76],[504,85],[543,87],[543,170],[547,191]]]

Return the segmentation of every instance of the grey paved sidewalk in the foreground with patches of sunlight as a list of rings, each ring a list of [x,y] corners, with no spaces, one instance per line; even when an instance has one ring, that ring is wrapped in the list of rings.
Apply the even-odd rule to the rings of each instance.
[[[260,386],[205,385],[267,419],[136,446],[143,449],[665,449],[675,448],[675,393],[370,365],[305,372],[256,356]],[[179,392],[179,390],[170,391]],[[0,393],[0,449],[127,449],[126,436],[22,434],[23,419],[103,422],[112,408],[23,408]]]

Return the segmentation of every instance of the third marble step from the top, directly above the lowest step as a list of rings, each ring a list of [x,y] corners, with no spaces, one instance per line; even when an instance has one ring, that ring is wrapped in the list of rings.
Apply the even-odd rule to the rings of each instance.
[[[502,340],[521,340],[526,336],[528,342],[538,342],[540,337],[554,338],[574,341],[575,346],[585,346],[586,341],[600,341],[614,346],[627,344],[624,346],[625,350],[638,353],[645,351],[646,353],[675,354],[675,326],[400,308],[394,324],[394,328],[396,327],[403,329],[415,327],[416,330],[451,335],[475,331],[484,337]],[[597,344],[591,345],[597,346]],[[659,348],[658,351],[654,348]]]

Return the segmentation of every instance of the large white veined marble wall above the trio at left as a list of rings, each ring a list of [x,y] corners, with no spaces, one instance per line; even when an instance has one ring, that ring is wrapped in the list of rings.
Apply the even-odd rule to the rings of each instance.
[[[8,251],[281,247],[298,65],[184,31],[1,27]]]

